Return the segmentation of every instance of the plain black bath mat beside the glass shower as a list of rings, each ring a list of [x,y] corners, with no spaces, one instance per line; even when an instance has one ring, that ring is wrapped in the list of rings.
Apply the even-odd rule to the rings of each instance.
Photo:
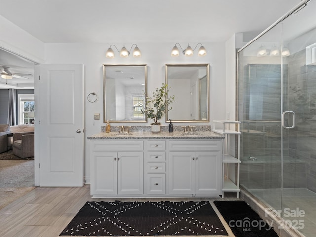
[[[214,201],[236,237],[278,237],[244,201]]]

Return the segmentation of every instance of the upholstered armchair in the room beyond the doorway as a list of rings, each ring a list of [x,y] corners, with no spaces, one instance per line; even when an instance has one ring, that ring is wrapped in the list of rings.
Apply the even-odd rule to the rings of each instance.
[[[34,132],[13,133],[13,154],[20,158],[34,157]]]

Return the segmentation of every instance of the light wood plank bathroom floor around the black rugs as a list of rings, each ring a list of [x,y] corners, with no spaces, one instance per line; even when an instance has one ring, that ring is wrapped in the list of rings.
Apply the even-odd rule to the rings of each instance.
[[[228,237],[235,237],[213,204],[214,200],[237,200],[236,193],[225,193],[222,198],[172,199],[96,199],[90,196],[90,185],[83,187],[37,187],[0,210],[1,237],[58,237],[87,201],[210,201],[222,221]],[[173,236],[174,237],[174,236]],[[203,236],[205,237],[205,236]],[[227,236],[216,236],[227,237]]]

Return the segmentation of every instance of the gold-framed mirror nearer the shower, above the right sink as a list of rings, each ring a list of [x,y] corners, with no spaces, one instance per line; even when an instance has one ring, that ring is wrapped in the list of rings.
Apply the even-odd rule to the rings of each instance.
[[[175,95],[166,122],[209,122],[209,64],[166,64],[165,83]]]

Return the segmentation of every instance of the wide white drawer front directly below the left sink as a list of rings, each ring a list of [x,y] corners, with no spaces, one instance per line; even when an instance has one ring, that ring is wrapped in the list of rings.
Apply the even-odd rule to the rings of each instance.
[[[143,151],[143,141],[96,141],[91,142],[91,151]]]

